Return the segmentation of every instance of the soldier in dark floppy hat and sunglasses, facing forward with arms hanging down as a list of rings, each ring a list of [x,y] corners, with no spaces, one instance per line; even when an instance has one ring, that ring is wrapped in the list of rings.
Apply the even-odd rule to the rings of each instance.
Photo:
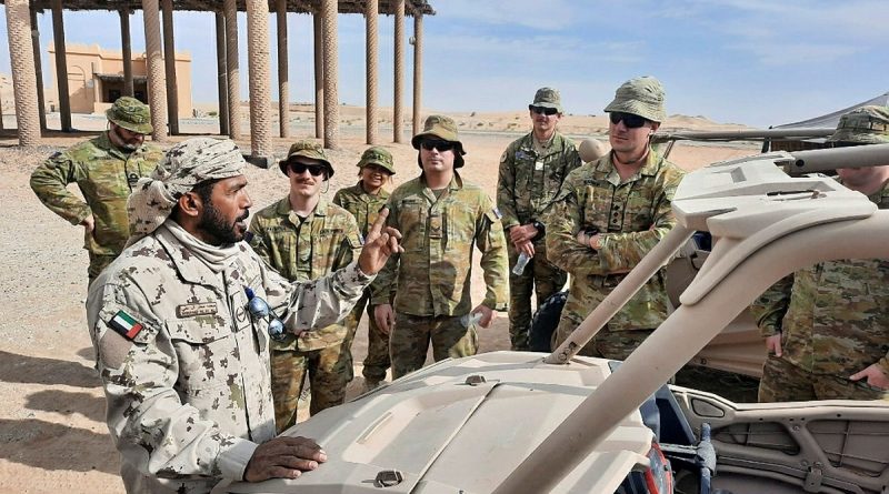
[[[466,154],[457,124],[431,115],[411,144],[419,150],[422,173],[389,198],[388,224],[403,232],[404,252],[391,258],[371,299],[377,324],[389,333],[394,379],[422,367],[430,341],[436,361],[475,355],[478,336],[470,312],[488,327],[493,311],[507,309],[508,259],[500,213],[481,188],[456,171]],[[471,309],[473,243],[481,252],[488,291]]]

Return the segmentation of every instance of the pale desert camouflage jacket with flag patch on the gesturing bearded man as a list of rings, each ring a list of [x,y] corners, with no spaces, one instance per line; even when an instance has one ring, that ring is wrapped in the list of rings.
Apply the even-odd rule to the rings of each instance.
[[[246,243],[214,273],[167,224],[127,249],[90,286],[89,326],[108,400],[108,425],[129,493],[208,493],[241,480],[274,437],[263,299],[291,331],[338,321],[372,280],[352,264],[290,284]],[[111,321],[142,325],[131,339]]]

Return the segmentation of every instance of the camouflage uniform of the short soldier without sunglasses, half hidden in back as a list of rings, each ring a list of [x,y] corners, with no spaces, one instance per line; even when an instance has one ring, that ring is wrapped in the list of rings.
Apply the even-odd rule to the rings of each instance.
[[[333,203],[352,213],[358,222],[361,235],[367,238],[370,226],[377,221],[380,210],[386,205],[388,199],[388,191],[380,190],[377,195],[372,195],[364,192],[364,189],[361,188],[361,182],[358,182],[356,185],[337,191],[333,195]],[[361,321],[361,312],[367,305],[368,356],[364,359],[361,373],[368,382],[377,383],[386,379],[386,370],[389,369],[389,335],[377,326],[377,321],[373,319],[373,305],[368,303],[370,302],[370,294],[371,289],[368,289],[361,300],[354,304],[351,314],[349,314],[349,319],[346,322],[346,326],[349,329],[349,334],[347,335],[348,344],[343,344],[343,346],[351,349],[356,329],[359,321]]]

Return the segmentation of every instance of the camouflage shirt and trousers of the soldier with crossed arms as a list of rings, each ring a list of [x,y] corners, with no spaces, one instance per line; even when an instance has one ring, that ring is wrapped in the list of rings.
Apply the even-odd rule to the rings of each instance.
[[[549,259],[571,273],[557,344],[676,225],[670,203],[682,175],[651,150],[641,169],[626,181],[620,180],[611,154],[582,165],[565,180],[546,222]],[[577,241],[577,233],[590,228],[601,234],[598,251]],[[668,306],[663,275],[658,273],[580,353],[625,359],[667,319]]]

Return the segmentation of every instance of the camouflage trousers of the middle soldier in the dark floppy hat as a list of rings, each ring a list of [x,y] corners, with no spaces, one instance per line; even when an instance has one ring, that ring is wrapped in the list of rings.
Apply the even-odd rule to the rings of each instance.
[[[430,342],[436,362],[475,355],[479,350],[475,324],[465,327],[460,316],[433,317],[397,312],[396,326],[389,335],[392,377],[399,379],[421,369]]]

